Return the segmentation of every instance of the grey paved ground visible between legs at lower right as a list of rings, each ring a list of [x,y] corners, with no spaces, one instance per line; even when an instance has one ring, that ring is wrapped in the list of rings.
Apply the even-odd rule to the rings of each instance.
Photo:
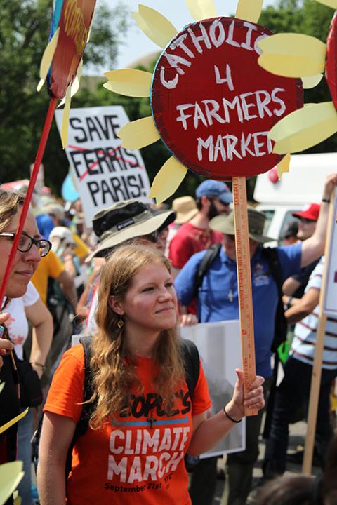
[[[305,422],[297,422],[296,424],[292,424],[290,426],[290,437],[289,437],[289,447],[288,447],[288,454],[293,454],[298,451],[300,447],[303,448],[304,446],[304,440],[305,440],[305,433],[307,429],[307,424]],[[251,495],[249,496],[249,499],[247,501],[247,505],[254,505],[256,504],[256,500],[254,499],[254,496],[256,495],[256,486],[259,483],[259,479],[262,477],[262,462],[263,462],[263,455],[265,453],[265,443],[264,440],[261,438],[260,440],[260,457],[258,459],[258,463],[256,464],[256,468],[254,469],[253,473],[253,490],[251,492]],[[294,463],[294,462],[287,462],[287,472],[289,473],[300,473],[302,470],[302,465],[300,463]],[[312,473],[314,475],[317,475],[320,473],[319,468],[316,466],[312,467]],[[254,489],[255,487],[255,489]],[[216,489],[216,497],[214,499],[213,505],[227,505],[227,499],[226,499],[226,489],[225,489],[225,481],[224,480],[218,480],[217,481],[217,489]],[[228,504],[230,505],[230,504]]]

